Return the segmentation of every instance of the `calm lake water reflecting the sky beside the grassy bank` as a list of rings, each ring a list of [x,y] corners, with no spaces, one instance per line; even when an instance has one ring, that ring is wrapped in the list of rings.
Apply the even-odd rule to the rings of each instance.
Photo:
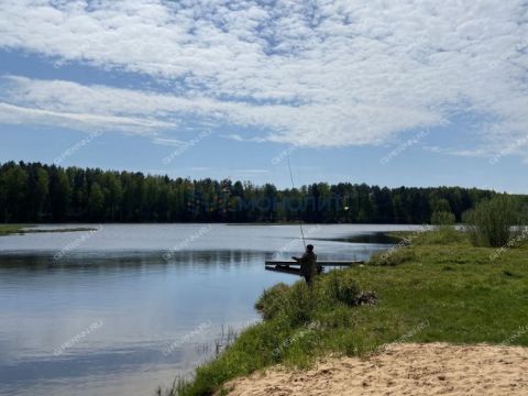
[[[387,248],[376,232],[402,229],[305,234],[321,260],[362,260]],[[264,260],[300,253],[298,237],[295,226],[103,224],[0,238],[0,395],[153,395],[209,359],[222,326],[258,320],[265,287],[297,280]]]

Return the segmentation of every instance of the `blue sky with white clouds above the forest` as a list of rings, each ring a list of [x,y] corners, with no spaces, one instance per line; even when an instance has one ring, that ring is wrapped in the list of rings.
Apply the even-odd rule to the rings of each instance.
[[[525,0],[2,0],[0,162],[528,194]]]

